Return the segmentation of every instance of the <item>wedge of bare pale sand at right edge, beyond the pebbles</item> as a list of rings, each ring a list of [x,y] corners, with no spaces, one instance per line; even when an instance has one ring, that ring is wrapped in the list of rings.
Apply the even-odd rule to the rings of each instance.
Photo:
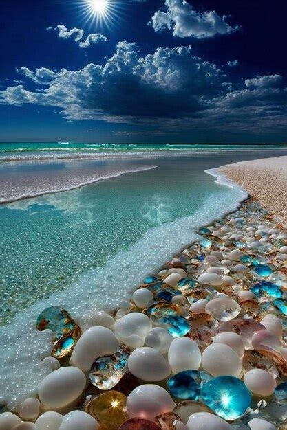
[[[287,226],[287,157],[244,161],[222,166],[226,177],[258,199]]]

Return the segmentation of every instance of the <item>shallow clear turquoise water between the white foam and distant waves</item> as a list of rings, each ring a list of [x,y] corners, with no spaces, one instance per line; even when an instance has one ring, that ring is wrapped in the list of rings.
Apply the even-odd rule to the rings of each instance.
[[[253,158],[259,156],[257,152]],[[153,227],[192,216],[209,201],[211,218],[215,201],[223,212],[228,211],[228,204],[237,201],[237,192],[217,185],[204,170],[250,158],[239,152],[149,159],[158,168],[0,205],[0,324],[39,299],[70,287],[83,273],[105,267],[112,256],[128,250]],[[100,162],[94,163],[96,167]],[[146,159],[132,161],[139,167],[146,163]],[[80,165],[83,169],[85,162]],[[131,161],[122,161],[121,166],[128,169]],[[30,170],[37,168],[29,165]],[[65,169],[65,163],[59,168]],[[45,169],[49,170],[48,163]],[[5,168],[1,174],[5,175]]]

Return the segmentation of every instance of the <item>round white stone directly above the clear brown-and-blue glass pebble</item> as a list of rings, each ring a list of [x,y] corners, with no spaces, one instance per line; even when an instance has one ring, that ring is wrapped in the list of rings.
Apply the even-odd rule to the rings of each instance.
[[[145,343],[145,337],[148,332],[151,331],[152,321],[142,313],[133,312],[125,315],[124,317],[118,319],[114,326],[114,332],[116,333],[116,337],[120,339],[125,345],[131,346],[129,344],[129,337],[132,335],[136,335],[142,339],[142,342],[139,346],[143,346]]]

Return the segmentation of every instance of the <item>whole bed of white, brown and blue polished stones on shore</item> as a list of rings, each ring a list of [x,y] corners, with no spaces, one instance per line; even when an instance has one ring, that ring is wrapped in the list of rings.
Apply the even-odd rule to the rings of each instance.
[[[287,429],[287,235],[252,200],[199,233],[83,334],[44,310],[54,370],[0,430]]]

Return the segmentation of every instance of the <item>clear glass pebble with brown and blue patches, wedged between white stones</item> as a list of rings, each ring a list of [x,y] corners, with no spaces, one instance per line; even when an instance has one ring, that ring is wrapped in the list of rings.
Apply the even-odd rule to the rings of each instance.
[[[92,384],[102,390],[114,388],[127,372],[129,354],[129,348],[120,346],[115,354],[96,359],[89,372]]]

